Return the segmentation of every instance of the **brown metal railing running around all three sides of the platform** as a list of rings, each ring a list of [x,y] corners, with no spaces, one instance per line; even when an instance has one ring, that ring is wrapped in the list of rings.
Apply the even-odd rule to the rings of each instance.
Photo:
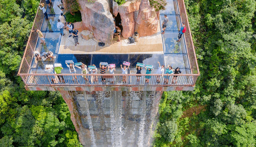
[[[41,0],[40,3],[45,3],[45,0]],[[30,71],[31,65],[33,62],[33,52],[36,49],[36,45],[38,42],[38,33],[30,32],[30,36],[27,41],[27,46],[25,48],[25,52],[22,58],[22,62],[18,71],[18,76],[21,76],[23,82],[25,83],[25,86],[33,86],[33,85],[48,85],[48,86],[68,86],[68,85],[84,85],[84,86],[90,86],[90,85],[102,85],[102,84],[108,84],[113,86],[133,86],[133,85],[156,85],[156,86],[194,86],[195,82],[200,75],[198,63],[196,60],[196,53],[193,46],[193,40],[191,35],[191,30],[188,23],[188,17],[185,9],[185,3],[184,0],[177,0],[179,10],[180,10],[180,17],[181,20],[185,22],[187,26],[187,32],[184,33],[185,37],[185,44],[188,52],[188,60],[191,68],[192,74],[177,74],[177,75],[171,75],[169,76],[169,82],[168,84],[164,84],[164,76],[160,76],[160,82],[157,83],[156,79],[159,75],[157,74],[150,74],[151,78],[148,83],[145,82],[146,76],[145,74],[140,74],[140,82],[137,83],[137,76],[136,74],[126,74],[125,77],[127,78],[127,82],[123,83],[123,74],[105,74],[106,77],[106,83],[101,82],[101,74],[41,74],[41,73],[33,73]],[[45,3],[46,5],[46,3]],[[44,22],[44,14],[41,12],[41,10],[38,8],[38,11],[35,15],[35,20],[33,23],[33,27],[31,30],[38,29],[40,30],[42,27],[42,24]],[[78,79],[73,81],[73,77],[77,76]],[[86,80],[84,80],[83,76],[88,77],[88,82],[86,83]],[[96,76],[96,77],[95,77]],[[177,76],[177,78],[175,77]],[[65,82],[61,82],[60,78],[64,79]],[[95,78],[94,78],[95,77]],[[113,77],[113,78],[112,78]],[[98,79],[96,82],[93,80],[91,82],[91,79]],[[54,81],[53,79],[56,79]],[[174,83],[172,83],[172,79],[176,79]],[[112,82],[113,81],[113,82]]]

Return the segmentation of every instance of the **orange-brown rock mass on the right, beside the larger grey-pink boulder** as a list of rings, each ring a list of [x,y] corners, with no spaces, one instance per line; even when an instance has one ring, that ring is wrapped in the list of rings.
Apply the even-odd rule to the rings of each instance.
[[[157,32],[159,19],[149,0],[129,0],[123,5],[113,1],[113,14],[120,14],[124,38],[132,36],[136,30],[139,36],[153,35]],[[159,15],[159,14],[158,14]]]

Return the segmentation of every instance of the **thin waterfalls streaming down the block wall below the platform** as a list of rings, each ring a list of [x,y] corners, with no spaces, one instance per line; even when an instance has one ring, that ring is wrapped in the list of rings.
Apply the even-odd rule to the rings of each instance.
[[[79,112],[84,129],[87,130],[83,134],[90,136],[84,142],[91,141],[90,147],[150,146],[161,95],[159,98],[155,92],[146,91],[82,93],[84,99],[78,98],[76,101],[81,109]],[[80,95],[77,93],[77,96]]]

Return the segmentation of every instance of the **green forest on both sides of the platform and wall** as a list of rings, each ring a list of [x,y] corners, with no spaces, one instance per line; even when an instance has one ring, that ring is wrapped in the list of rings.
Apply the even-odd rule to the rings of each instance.
[[[39,0],[0,0],[0,147],[82,147],[59,92],[17,75]],[[164,92],[154,147],[256,146],[256,1],[185,0],[201,76]],[[255,34],[255,35],[254,35]]]

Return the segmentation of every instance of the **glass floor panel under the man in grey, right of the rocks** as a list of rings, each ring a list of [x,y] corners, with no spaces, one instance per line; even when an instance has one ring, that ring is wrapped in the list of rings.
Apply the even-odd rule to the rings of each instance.
[[[169,22],[167,23],[166,32],[178,32],[178,30],[181,27],[181,23],[180,23],[180,16],[167,16],[169,19]],[[161,20],[161,24],[163,24],[163,19],[164,19],[164,15],[160,15],[160,20]],[[163,28],[161,27],[161,30],[163,30]]]

